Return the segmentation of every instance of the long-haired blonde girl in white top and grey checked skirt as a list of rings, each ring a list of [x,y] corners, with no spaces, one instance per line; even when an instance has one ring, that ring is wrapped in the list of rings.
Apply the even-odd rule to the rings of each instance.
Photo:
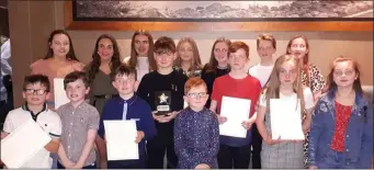
[[[283,109],[292,107],[292,111],[298,107],[293,105],[293,102],[287,102],[290,105],[282,105],[282,109],[271,107],[275,100],[297,101],[299,100],[301,110],[296,113],[298,122],[283,121],[281,124],[294,124],[302,122],[303,113],[306,112],[306,118],[299,125],[302,129],[288,132],[296,134],[297,132],[306,133],[310,125],[311,110],[314,106],[313,94],[309,88],[303,88],[301,80],[301,63],[299,59],[293,55],[283,55],[279,57],[274,64],[274,68],[270,75],[269,81],[262,90],[259,99],[259,106],[257,110],[257,127],[263,138],[261,152],[261,168],[264,169],[302,169],[304,167],[303,141],[299,140],[284,140],[273,139],[272,137],[272,122],[271,116],[276,114],[288,115],[290,113],[270,112],[283,111]],[[273,115],[272,115],[273,114]],[[282,116],[281,115],[281,116]],[[287,122],[287,123],[286,123]],[[279,123],[279,122],[277,122]],[[285,126],[285,125],[282,125]],[[303,132],[302,132],[303,131]],[[291,134],[291,135],[294,135]],[[303,134],[302,134],[303,135]]]

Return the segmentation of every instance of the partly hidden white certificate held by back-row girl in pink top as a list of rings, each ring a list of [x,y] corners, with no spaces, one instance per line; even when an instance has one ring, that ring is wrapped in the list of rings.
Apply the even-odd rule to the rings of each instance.
[[[69,102],[69,99],[66,95],[66,92],[64,89],[64,79],[61,78],[54,79],[54,90],[55,90],[55,93],[54,93],[55,94],[55,110],[57,110],[59,106]]]

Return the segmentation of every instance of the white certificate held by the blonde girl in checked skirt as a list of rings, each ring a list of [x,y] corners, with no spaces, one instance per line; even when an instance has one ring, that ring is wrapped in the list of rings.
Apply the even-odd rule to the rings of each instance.
[[[272,139],[305,138],[302,126],[301,101],[298,99],[271,99],[270,121]]]

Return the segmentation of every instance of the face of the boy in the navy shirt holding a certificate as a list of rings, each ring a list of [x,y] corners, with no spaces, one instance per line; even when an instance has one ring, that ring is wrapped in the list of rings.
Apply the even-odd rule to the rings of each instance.
[[[136,80],[134,75],[117,75],[112,82],[113,87],[117,89],[118,93],[122,95],[134,93],[135,83]]]

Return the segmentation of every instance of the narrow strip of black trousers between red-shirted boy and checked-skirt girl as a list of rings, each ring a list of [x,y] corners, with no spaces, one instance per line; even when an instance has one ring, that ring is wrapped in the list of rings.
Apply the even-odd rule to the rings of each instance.
[[[262,149],[262,137],[257,129],[256,124],[252,125],[252,169],[261,169],[261,149]]]

